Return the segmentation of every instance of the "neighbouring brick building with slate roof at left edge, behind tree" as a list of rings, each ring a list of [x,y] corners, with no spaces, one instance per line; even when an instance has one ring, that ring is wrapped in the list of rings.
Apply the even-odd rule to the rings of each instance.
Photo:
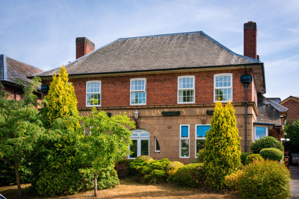
[[[39,72],[42,72],[42,70],[11,59],[6,55],[0,55],[0,89],[8,91],[11,98],[15,100],[20,100],[23,95],[22,88],[16,85],[15,80],[21,80],[28,84],[30,79],[27,76]],[[41,92],[37,92],[36,95],[41,99]]]

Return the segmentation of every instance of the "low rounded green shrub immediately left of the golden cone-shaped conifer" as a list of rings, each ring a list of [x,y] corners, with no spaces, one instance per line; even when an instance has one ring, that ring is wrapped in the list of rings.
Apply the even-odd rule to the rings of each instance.
[[[203,187],[205,179],[203,164],[189,164],[180,167],[173,175],[168,177],[167,182],[174,183],[179,187]]]

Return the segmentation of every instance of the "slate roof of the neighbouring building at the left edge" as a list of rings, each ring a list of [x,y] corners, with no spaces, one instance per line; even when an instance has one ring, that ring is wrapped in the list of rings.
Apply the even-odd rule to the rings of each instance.
[[[0,72],[0,81],[6,81],[15,84],[16,79],[25,81],[27,83],[30,82],[30,79],[28,79],[27,76],[40,73],[42,70],[11,59],[5,55],[0,55]]]

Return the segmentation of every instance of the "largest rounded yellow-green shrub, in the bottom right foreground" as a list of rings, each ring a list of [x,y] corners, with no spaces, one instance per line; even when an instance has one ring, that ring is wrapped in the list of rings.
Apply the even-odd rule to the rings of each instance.
[[[277,161],[254,161],[243,170],[239,194],[243,199],[289,199],[290,171]]]

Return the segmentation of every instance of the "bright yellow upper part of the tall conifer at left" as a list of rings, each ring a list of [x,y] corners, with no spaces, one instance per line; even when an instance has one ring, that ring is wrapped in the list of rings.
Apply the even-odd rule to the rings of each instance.
[[[68,74],[64,66],[52,77],[48,95],[45,96],[46,115],[50,125],[56,118],[78,117],[77,99],[72,83],[68,83]]]

